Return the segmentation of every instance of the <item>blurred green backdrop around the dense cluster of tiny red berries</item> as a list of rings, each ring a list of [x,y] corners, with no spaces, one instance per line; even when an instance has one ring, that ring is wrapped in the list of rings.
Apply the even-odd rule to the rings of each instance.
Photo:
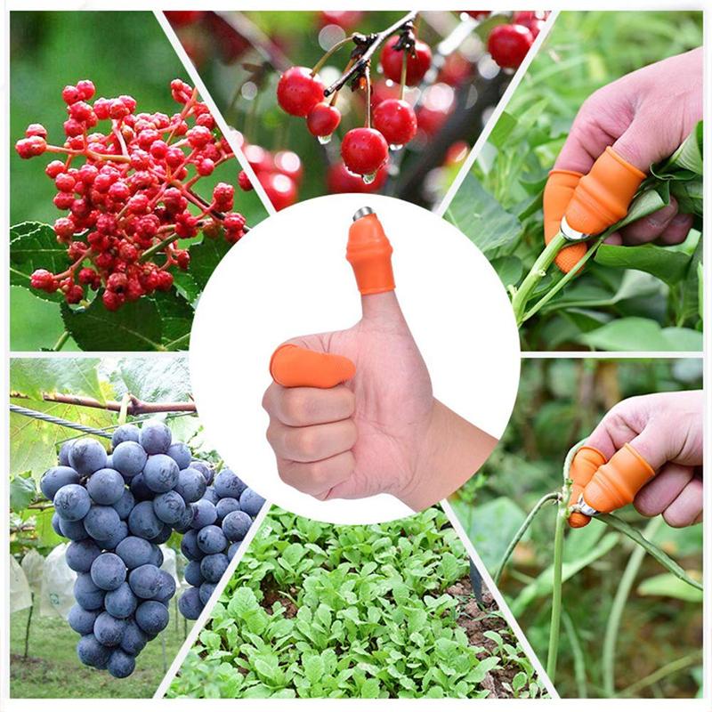
[[[63,214],[53,205],[53,182],[44,174],[49,159],[22,160],[14,144],[35,122],[46,127],[50,142],[63,141],[64,85],[89,78],[95,98],[130,94],[137,110],[171,115],[178,106],[171,80],[190,80],[152,12],[11,12],[10,62],[11,224],[51,224]],[[234,185],[238,171],[237,163],[219,166],[198,191],[207,194],[221,180]],[[266,215],[254,192],[240,193],[237,202],[249,224]],[[12,351],[52,347],[63,331],[57,304],[11,287]],[[64,346],[76,348],[71,339]]]

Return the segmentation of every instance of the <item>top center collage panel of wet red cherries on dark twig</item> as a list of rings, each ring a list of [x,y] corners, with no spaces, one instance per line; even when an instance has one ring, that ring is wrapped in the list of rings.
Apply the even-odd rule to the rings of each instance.
[[[279,210],[331,193],[437,206],[549,13],[165,14]]]

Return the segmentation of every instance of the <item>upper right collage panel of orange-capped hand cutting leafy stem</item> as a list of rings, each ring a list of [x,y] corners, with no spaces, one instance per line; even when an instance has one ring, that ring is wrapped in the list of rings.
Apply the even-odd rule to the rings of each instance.
[[[702,350],[701,44],[701,12],[557,15],[445,213],[498,271],[522,350]],[[626,189],[597,161],[578,183],[611,145],[643,172]]]

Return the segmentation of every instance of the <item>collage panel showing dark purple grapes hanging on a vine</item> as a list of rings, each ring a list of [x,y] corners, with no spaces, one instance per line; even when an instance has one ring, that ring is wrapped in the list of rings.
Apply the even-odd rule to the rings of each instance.
[[[11,695],[150,698],[264,499],[184,357],[13,359],[10,386]]]

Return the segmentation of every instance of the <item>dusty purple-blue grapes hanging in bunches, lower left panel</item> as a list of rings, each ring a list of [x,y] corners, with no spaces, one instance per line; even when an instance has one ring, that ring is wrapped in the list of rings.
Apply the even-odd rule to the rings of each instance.
[[[168,625],[175,581],[159,545],[183,535],[190,588],[178,607],[197,619],[264,500],[231,470],[214,477],[162,421],[121,425],[111,446],[108,454],[93,438],[65,442],[40,489],[53,501],[53,529],[70,540],[77,657],[121,678]]]

